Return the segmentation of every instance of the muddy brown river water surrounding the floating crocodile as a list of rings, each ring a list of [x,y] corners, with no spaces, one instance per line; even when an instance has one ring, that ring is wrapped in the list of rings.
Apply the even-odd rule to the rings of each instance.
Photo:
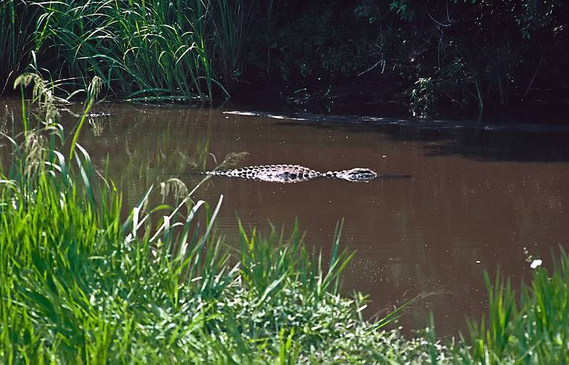
[[[11,125],[17,100],[3,100]],[[4,107],[6,105],[6,107]],[[80,110],[80,107],[74,107]],[[427,295],[405,312],[404,331],[427,324],[457,334],[486,308],[483,273],[517,283],[531,271],[524,248],[551,265],[569,248],[569,129],[536,125],[334,117],[241,115],[222,110],[104,103],[80,144],[122,187],[128,206],[150,184],[177,177],[188,186],[229,152],[239,166],[300,164],[317,171],[361,166],[386,175],[367,183],[314,179],[276,184],[213,176],[196,197],[224,195],[218,231],[235,239],[237,218],[267,232],[298,218],[310,247],[329,252],[344,218],[341,246],[356,250],[344,291],[370,296],[368,314]],[[78,121],[62,112],[64,124]],[[6,122],[8,120],[8,122]],[[0,126],[1,127],[1,126]]]

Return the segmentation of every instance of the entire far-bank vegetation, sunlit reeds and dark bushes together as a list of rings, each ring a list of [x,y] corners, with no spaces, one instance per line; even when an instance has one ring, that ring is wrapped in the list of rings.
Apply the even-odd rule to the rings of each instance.
[[[3,0],[0,18],[1,90],[32,68],[126,100],[566,122],[562,0]]]

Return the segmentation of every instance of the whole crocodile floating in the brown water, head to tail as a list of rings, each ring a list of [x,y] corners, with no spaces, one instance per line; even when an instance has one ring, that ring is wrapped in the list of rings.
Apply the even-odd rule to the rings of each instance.
[[[376,171],[366,169],[364,167],[356,167],[354,169],[342,171],[319,172],[308,167],[300,165],[260,165],[247,166],[240,169],[230,169],[225,171],[206,171],[208,175],[232,176],[243,179],[270,181],[278,183],[296,183],[300,181],[312,180],[317,177],[326,177],[329,179],[344,179],[347,181],[369,181],[376,179],[378,174]]]

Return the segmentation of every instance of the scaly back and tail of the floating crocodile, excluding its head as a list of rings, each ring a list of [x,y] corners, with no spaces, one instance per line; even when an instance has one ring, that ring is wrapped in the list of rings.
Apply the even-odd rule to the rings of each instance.
[[[206,171],[208,175],[233,176],[243,179],[270,181],[279,183],[295,183],[307,181],[321,176],[318,171],[300,165],[260,165],[247,166],[226,171]]]

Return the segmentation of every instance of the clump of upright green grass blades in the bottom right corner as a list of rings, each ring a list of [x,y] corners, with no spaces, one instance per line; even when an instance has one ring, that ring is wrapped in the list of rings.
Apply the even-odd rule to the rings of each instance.
[[[470,322],[470,351],[464,364],[565,364],[569,361],[569,257],[552,255],[553,270],[537,268],[519,295],[510,279],[485,275],[488,319]]]

